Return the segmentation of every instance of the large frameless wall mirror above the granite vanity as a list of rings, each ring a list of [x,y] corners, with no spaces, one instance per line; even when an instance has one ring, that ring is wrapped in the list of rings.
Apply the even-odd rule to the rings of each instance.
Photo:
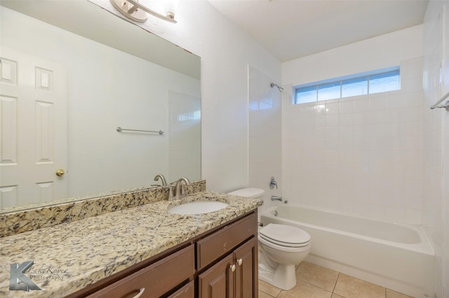
[[[0,4],[1,212],[201,179],[199,57],[88,1]]]

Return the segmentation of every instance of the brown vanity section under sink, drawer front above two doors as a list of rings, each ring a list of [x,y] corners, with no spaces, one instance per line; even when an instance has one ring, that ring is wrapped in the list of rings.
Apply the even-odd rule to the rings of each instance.
[[[199,298],[257,298],[257,213],[196,242]],[[219,262],[214,262],[220,260]]]

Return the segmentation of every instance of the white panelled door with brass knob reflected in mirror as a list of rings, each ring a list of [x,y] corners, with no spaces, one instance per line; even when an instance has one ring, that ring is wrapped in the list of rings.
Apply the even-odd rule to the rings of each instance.
[[[67,177],[55,172],[67,169],[67,71],[0,50],[0,208],[63,199]]]

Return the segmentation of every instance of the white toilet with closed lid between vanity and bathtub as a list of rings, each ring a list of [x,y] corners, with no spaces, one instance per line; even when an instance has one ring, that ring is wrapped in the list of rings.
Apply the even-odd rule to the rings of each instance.
[[[256,198],[264,190],[243,188],[228,194]],[[259,228],[259,279],[282,290],[296,285],[296,265],[309,254],[310,235],[298,227],[269,223]]]

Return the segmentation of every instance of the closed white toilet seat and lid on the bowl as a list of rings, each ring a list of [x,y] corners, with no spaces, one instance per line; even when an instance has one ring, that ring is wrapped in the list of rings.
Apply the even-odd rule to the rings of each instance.
[[[310,243],[310,234],[289,225],[268,224],[259,231],[260,238],[278,246],[300,248]]]

